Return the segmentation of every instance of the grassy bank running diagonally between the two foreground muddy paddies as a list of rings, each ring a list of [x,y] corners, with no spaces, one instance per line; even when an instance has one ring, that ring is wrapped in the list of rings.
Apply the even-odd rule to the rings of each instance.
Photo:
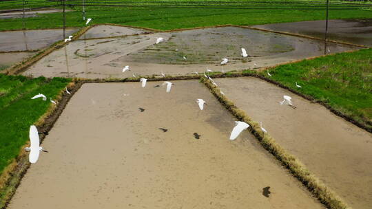
[[[304,166],[294,155],[291,155],[285,148],[276,142],[269,134],[263,133],[260,129],[260,124],[252,120],[249,115],[242,109],[236,107],[234,102],[229,100],[225,95],[221,94],[220,89],[213,85],[208,79],[201,78],[201,82],[211,91],[212,94],[230,111],[238,120],[247,122],[250,125],[249,131],[258,139],[260,144],[271,154],[273,154],[292,175],[298,178],[304,186],[306,186],[321,203],[330,209],[350,209],[338,195],[328,188],[318,177],[313,175],[310,170]]]

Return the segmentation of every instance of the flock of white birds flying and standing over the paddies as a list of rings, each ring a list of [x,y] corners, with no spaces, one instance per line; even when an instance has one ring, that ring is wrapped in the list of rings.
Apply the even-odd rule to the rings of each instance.
[[[90,23],[90,21],[92,21],[92,19],[87,19],[87,22],[86,22],[86,25],[88,23]],[[65,42],[67,41],[71,41],[72,40],[72,36],[69,36],[68,39],[65,39]],[[158,37],[156,39],[156,44],[158,43],[161,43],[163,42],[164,39],[161,38],[161,37]],[[178,50],[176,50],[178,51]],[[248,54],[247,54],[247,50],[245,50],[245,48],[241,48],[241,51],[242,51],[242,56],[243,57],[247,57]],[[185,56],[183,56],[183,59],[184,60],[187,60],[187,58]],[[227,58],[223,58],[220,65],[226,65],[227,63],[229,62],[229,59]],[[256,63],[254,63],[254,66],[257,67]],[[127,72],[127,71],[130,71],[130,66],[129,65],[126,65],[122,72]],[[216,82],[211,78],[209,77],[209,72],[213,72],[211,69],[207,69],[206,70],[207,74],[205,74],[204,72],[204,76],[205,78],[208,78],[209,81],[215,85],[216,87],[218,87],[218,85],[216,84]],[[198,72],[194,72],[195,74],[198,74]],[[269,70],[267,70],[267,75],[271,77],[271,74],[269,73]],[[134,77],[136,77],[134,74],[133,74]],[[163,72],[161,72],[161,76],[165,77],[165,74],[163,74]],[[140,78],[140,82],[141,82],[141,86],[144,88],[146,87],[146,83],[147,83],[147,79],[146,78]],[[167,89],[166,89],[166,92],[167,93],[170,93],[171,89],[172,89],[172,85],[174,85],[173,83],[170,83],[169,81],[165,81],[163,83],[163,86],[166,85],[167,86]],[[298,88],[302,88],[300,85],[297,84],[296,82],[296,87]],[[66,93],[67,94],[71,94],[70,91],[68,91],[68,88],[66,87],[65,89]],[[222,91],[220,91],[220,94],[223,94],[225,95]],[[34,99],[37,99],[37,98],[42,98],[43,101],[46,101],[47,100],[47,97],[43,94],[37,94],[35,95],[34,97],[32,97],[31,99],[34,100]],[[279,104],[287,104],[289,105],[290,107],[292,107],[293,109],[296,109],[295,106],[293,106],[293,103],[291,102],[291,97],[290,96],[283,96],[283,100],[281,102],[279,102]],[[52,100],[52,98],[50,98],[50,102],[52,102],[53,104],[57,104],[56,101]],[[204,104],[207,104],[205,102],[205,100],[203,99],[197,99],[196,100],[196,103],[198,104],[198,107],[200,110],[203,110],[204,109]],[[238,135],[240,135],[240,133],[242,131],[244,131],[245,129],[248,129],[249,128],[249,124],[247,124],[246,122],[242,122],[242,121],[236,121],[235,122],[235,126],[234,128],[232,129],[231,131],[231,134],[230,134],[230,137],[229,137],[229,140],[236,140],[236,138],[238,137]],[[260,129],[262,130],[262,132],[264,133],[267,133],[266,129],[264,129],[262,127],[262,122],[260,122]],[[37,131],[37,127],[32,125],[30,126],[30,147],[26,147],[25,148],[25,151],[30,151],[30,155],[29,155],[29,161],[30,163],[34,164],[37,162],[37,160],[39,159],[39,153],[40,151],[45,151],[43,150],[43,148],[40,146],[40,140],[39,140],[39,132]],[[45,152],[48,152],[48,151],[45,151]]]

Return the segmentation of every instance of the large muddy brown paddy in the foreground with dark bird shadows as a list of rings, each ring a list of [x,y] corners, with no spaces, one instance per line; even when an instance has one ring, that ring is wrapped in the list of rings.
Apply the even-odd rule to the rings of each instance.
[[[229,140],[235,119],[203,84],[174,83],[83,85],[8,208],[323,208],[248,131]]]

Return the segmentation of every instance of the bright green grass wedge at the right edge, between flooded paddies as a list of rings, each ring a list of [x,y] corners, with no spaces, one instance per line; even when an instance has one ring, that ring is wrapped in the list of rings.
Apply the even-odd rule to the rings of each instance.
[[[267,71],[260,75],[329,105],[372,130],[372,49],[280,65],[269,72],[271,77]],[[302,88],[296,87],[296,82]]]

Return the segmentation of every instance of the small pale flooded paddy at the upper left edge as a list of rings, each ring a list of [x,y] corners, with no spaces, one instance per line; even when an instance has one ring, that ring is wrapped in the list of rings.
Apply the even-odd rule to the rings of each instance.
[[[66,36],[70,36],[79,29],[66,29]],[[63,40],[63,30],[17,30],[0,32],[0,52],[40,50],[56,41]]]

